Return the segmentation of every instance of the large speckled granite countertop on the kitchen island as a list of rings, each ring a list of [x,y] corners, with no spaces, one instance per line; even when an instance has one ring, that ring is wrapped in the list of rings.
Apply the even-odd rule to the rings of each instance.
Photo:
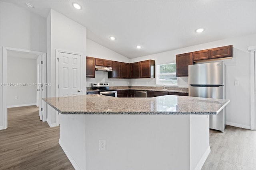
[[[188,96],[115,98],[98,94],[44,98],[61,114],[217,114],[230,100]]]

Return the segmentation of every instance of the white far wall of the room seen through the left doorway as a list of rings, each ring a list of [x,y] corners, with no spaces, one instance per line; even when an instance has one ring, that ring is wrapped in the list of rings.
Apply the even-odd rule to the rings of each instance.
[[[8,57],[8,83],[36,83],[36,59]],[[17,99],[14,99],[17,96]],[[36,86],[8,86],[8,107],[36,104]]]

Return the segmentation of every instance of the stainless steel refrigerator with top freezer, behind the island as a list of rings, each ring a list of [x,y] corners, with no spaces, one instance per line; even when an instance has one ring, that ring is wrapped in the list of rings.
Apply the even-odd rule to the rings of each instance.
[[[226,99],[226,65],[223,62],[188,66],[188,95],[202,98]],[[210,129],[224,131],[226,107],[210,115]]]

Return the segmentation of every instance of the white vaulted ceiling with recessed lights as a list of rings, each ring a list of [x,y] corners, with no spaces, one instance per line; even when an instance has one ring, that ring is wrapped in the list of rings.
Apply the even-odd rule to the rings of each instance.
[[[87,27],[88,39],[128,58],[256,33],[256,0],[0,1],[44,18],[52,8]],[[76,10],[73,2],[82,9]],[[196,33],[198,28],[205,31]]]

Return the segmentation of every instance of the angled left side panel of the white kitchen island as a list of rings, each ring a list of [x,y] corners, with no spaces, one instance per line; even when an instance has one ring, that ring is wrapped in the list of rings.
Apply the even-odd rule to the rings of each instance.
[[[85,115],[60,114],[59,144],[76,170],[85,170]]]

